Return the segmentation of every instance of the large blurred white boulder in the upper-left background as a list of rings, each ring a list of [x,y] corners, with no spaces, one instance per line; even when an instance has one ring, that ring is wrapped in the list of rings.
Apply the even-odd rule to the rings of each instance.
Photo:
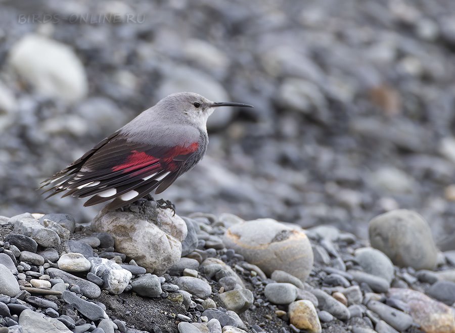
[[[10,65],[44,96],[76,102],[87,94],[82,63],[65,44],[29,34],[13,45]]]

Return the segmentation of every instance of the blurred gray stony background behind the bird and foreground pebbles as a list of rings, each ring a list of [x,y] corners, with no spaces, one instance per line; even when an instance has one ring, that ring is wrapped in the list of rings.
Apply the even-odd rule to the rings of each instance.
[[[0,214],[101,207],[35,189],[168,93],[218,110],[207,156],[164,194],[366,236],[410,208],[455,249],[455,2],[0,2]],[[158,198],[157,198],[158,199]]]

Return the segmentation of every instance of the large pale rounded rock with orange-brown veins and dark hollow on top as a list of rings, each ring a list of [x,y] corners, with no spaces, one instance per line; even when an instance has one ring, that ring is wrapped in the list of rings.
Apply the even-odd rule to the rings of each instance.
[[[265,274],[283,270],[304,281],[313,266],[306,234],[272,219],[234,224],[224,234],[223,242]]]

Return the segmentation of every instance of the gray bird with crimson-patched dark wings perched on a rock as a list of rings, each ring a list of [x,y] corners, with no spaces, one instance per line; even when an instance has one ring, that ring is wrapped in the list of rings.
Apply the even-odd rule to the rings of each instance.
[[[41,182],[51,197],[90,197],[84,206],[111,201],[115,210],[141,198],[153,200],[205,155],[207,119],[217,107],[253,106],[212,102],[194,92],[178,92],[160,100],[99,142],[82,157]],[[45,199],[47,199],[45,198]],[[169,201],[157,202],[165,208]]]

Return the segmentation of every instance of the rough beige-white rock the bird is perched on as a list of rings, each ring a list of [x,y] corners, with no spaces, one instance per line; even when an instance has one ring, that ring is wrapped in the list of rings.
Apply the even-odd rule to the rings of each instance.
[[[113,235],[116,251],[134,259],[149,272],[164,273],[181,256],[187,225],[170,209],[132,206],[138,212],[103,209],[92,228]],[[150,240],[153,240],[151,242]]]

